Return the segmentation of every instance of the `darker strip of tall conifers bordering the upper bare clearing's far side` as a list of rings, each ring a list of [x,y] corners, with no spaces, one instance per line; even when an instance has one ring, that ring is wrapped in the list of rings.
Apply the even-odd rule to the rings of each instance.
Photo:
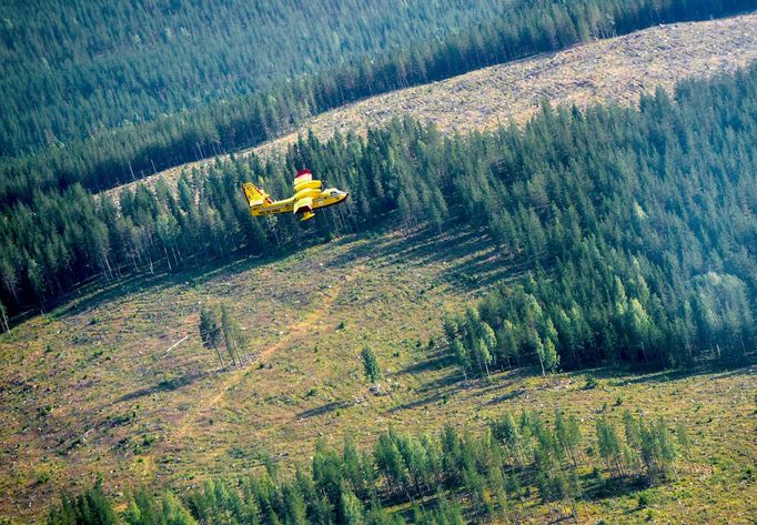
[[[363,97],[660,22],[705,19],[754,9],[757,0],[537,0],[516,6],[503,16],[493,17],[492,21],[473,24],[446,38],[401,46],[391,52],[365,55],[354,63],[347,62],[321,73],[279,81],[269,91],[211,101],[191,111],[160,112],[155,120],[140,125],[130,123],[118,129],[95,130],[91,138],[65,145],[53,139],[49,147],[0,161],[0,202],[21,200],[29,203],[40,189],[64,190],[75,182],[90,191],[99,191],[170,165],[259,143],[311,114]],[[398,12],[402,17],[405,10]],[[202,52],[206,52],[204,47]],[[265,52],[270,51],[266,49]],[[161,70],[151,69],[150,73],[161,78]],[[244,72],[246,74],[246,69]],[[88,89],[97,85],[93,80],[87,82]],[[160,97],[169,97],[172,84],[166,79],[155,80],[154,84]],[[47,91],[57,93],[57,89],[59,87],[51,85]],[[11,90],[16,91],[29,93],[28,90]],[[68,100],[68,95],[62,97]],[[50,114],[59,112],[54,108],[49,110]],[[133,108],[130,111],[139,113]],[[83,119],[98,122],[90,112],[84,113]],[[13,124],[14,120],[9,119],[9,125],[13,125],[9,137],[23,134],[22,125]],[[142,120],[143,117],[139,117],[137,122]],[[37,133],[47,134],[46,125],[51,124],[34,124],[36,129],[40,128]],[[95,128],[102,127],[97,124]]]

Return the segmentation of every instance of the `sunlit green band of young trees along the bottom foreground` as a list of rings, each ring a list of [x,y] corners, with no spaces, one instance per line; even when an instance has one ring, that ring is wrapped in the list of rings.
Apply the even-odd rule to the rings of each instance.
[[[309,471],[300,465],[286,476],[269,458],[261,474],[236,483],[210,479],[181,499],[138,491],[121,515],[98,483],[63,496],[48,524],[403,524],[403,515],[386,507],[404,503],[412,505],[405,517],[418,524],[519,523],[533,517],[535,498],[553,519],[578,521],[578,499],[675,477],[688,447],[683,426],[674,432],[629,411],[622,431],[602,417],[591,438],[575,416],[557,411],[548,423],[524,411],[517,418],[505,414],[480,435],[452,426],[438,435],[391,430],[372,452],[350,437],[341,452],[319,440]]]

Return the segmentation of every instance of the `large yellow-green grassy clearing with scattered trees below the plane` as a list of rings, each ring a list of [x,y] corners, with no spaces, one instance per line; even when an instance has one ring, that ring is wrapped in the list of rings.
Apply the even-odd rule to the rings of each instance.
[[[588,523],[751,523],[756,367],[597,370],[593,390],[586,373],[462,382],[430,344],[441,317],[515,274],[476,232],[390,231],[133,281],[34,317],[0,337],[0,516],[29,521],[98,473],[117,498],[139,484],[182,489],[260,468],[266,455],[307,462],[317,436],[367,446],[390,425],[477,428],[505,410],[563,406],[587,433],[630,407],[683,422],[695,442],[678,481],[645,491],[643,506],[638,492],[583,502]],[[250,340],[242,368],[219,370],[200,342],[200,304],[222,302]],[[366,344],[386,395],[363,377]],[[545,513],[535,505],[531,518]]]

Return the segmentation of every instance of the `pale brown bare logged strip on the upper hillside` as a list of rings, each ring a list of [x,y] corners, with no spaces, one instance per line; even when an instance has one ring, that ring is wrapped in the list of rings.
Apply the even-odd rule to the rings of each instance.
[[[756,59],[755,13],[660,26],[347,104],[241,154],[281,152],[306,130],[319,138],[336,131],[363,133],[367,127],[405,114],[433,121],[444,133],[468,133],[509,121],[523,124],[544,99],[582,108],[604,101],[630,105],[638,102],[640,93],[658,85],[670,90],[682,79],[733,71]],[[118,195],[122,188],[140,183],[152,185],[161,178],[175,181],[182,171],[209,162],[212,160],[165,170],[109,193]]]

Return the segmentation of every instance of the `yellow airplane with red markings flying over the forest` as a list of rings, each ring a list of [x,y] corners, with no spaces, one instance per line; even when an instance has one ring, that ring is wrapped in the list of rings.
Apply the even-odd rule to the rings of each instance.
[[[263,190],[252,182],[242,183],[244,196],[253,215],[271,215],[273,213],[299,213],[302,221],[313,219],[313,210],[333,206],[344,201],[349,193],[336,188],[321,189],[322,182],[313,180],[310,170],[297,171],[294,178],[294,195],[282,201],[272,201]]]

